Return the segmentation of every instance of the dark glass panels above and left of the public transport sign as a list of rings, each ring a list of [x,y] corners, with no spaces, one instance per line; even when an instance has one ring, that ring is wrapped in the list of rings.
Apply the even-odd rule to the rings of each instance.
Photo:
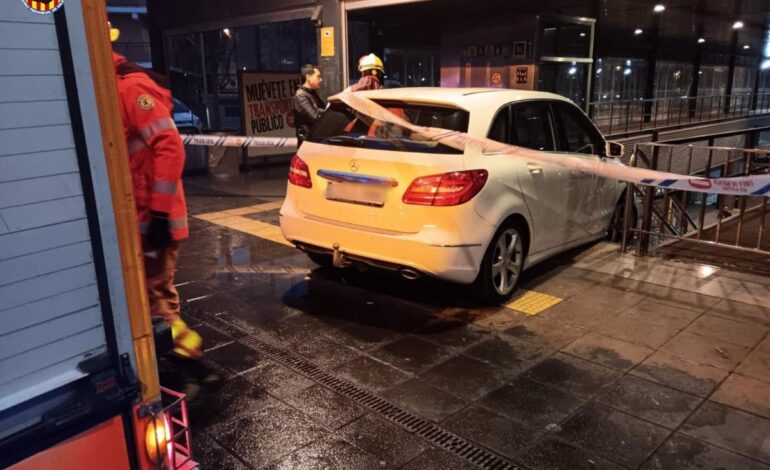
[[[241,129],[238,72],[299,73],[316,63],[316,28],[293,20],[166,38],[174,96],[211,130]]]

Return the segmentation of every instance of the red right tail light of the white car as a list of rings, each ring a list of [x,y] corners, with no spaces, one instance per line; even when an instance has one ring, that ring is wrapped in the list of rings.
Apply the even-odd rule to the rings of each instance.
[[[404,193],[405,204],[423,206],[457,206],[481,191],[489,174],[486,170],[455,171],[423,176],[412,181]]]

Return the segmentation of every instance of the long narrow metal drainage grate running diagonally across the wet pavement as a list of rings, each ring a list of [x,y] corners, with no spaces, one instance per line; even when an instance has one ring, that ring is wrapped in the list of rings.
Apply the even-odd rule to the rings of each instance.
[[[259,340],[228,321],[213,315],[208,315],[194,307],[190,308],[189,305],[184,313],[232,336],[233,339],[244,346],[262,353],[282,365],[294,369],[318,384],[356,401],[358,404],[378,413],[409,433],[420,436],[433,445],[452,452],[480,468],[490,470],[514,470],[519,468],[500,455],[474,444],[464,437],[447,431],[431,421],[427,421],[409,411],[401,409],[387,400],[359,388],[357,385],[339,379],[302,357]]]

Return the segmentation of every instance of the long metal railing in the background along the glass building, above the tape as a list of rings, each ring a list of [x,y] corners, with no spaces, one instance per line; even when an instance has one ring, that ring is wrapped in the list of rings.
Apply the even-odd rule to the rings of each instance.
[[[588,115],[605,134],[626,134],[762,113],[770,113],[770,93],[612,100],[588,105]]]

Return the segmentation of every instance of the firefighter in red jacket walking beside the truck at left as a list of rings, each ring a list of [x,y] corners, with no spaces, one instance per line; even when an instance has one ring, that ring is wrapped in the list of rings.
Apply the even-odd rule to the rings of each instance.
[[[110,29],[112,41],[118,35],[116,29]],[[164,76],[128,62],[115,52],[112,59],[142,236],[150,312],[171,326],[175,355],[200,359],[203,341],[179,316],[179,294],[174,287],[179,242],[188,237],[189,231],[182,189],[185,150],[171,117],[171,92]],[[205,376],[200,373],[205,367],[198,361],[190,364],[194,365],[191,369],[196,379]]]

